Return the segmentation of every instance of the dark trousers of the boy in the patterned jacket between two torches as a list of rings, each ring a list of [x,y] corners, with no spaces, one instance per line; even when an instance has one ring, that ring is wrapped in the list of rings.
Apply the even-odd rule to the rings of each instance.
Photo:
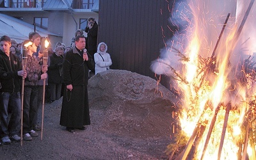
[[[38,86],[25,86],[24,88],[24,106],[23,106],[23,134],[33,129],[37,124],[37,99]]]

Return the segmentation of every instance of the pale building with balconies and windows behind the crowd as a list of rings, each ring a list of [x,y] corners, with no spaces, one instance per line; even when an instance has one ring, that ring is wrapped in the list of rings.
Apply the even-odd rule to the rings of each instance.
[[[31,31],[45,30],[52,45],[63,42],[69,46],[76,30],[87,25],[88,17],[98,20],[99,9],[93,5],[99,6],[99,1],[0,0],[0,13],[32,25]]]

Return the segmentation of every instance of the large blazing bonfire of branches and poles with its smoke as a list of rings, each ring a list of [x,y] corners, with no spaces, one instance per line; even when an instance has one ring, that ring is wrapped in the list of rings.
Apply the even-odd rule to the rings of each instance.
[[[254,0],[182,1],[170,13],[176,30],[151,66],[172,77],[180,99],[167,154],[256,159]]]

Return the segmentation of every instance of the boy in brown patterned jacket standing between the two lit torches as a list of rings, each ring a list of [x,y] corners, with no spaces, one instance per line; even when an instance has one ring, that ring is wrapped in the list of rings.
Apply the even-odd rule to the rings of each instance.
[[[27,49],[28,62],[26,65],[27,77],[24,84],[24,106],[23,106],[23,140],[31,141],[32,137],[38,136],[33,130],[37,119],[37,100],[39,80],[46,79],[47,65],[41,65],[40,59],[33,55],[36,52],[36,44],[31,40],[25,40],[23,46],[29,44]]]

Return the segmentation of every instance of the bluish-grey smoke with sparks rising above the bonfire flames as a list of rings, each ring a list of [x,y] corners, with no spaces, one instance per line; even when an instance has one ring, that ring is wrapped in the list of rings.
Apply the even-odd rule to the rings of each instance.
[[[170,24],[176,26],[177,29],[173,37],[166,42],[166,48],[160,50],[159,58],[152,61],[150,69],[156,74],[168,76],[173,74],[172,68],[180,70],[182,58],[177,55],[181,52],[187,56],[187,47],[195,35],[200,40],[198,55],[203,58],[211,57],[228,13],[230,13],[230,18],[221,38],[222,44],[227,43],[226,40],[230,33],[241,24],[249,3],[250,1],[242,0],[176,1],[170,15]],[[233,46],[234,51],[230,55],[231,64],[236,65],[239,59],[248,58],[248,55],[256,52],[255,12],[255,4],[253,4],[236,46]],[[216,53],[221,58],[223,48],[218,47]]]

